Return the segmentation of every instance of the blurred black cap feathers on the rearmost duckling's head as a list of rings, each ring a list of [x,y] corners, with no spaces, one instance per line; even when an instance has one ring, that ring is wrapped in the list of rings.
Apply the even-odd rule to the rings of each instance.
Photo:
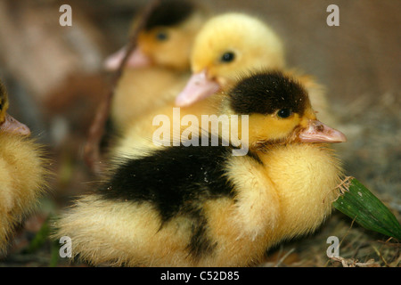
[[[188,19],[195,6],[191,2],[182,0],[162,0],[158,7],[151,13],[146,22],[145,29],[155,27],[171,27]]]

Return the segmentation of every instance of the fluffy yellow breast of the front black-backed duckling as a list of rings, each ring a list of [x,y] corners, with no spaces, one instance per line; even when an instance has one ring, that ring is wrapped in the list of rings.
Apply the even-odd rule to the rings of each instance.
[[[284,237],[312,232],[331,213],[342,169],[327,145],[291,143],[269,151],[266,171],[280,201]]]

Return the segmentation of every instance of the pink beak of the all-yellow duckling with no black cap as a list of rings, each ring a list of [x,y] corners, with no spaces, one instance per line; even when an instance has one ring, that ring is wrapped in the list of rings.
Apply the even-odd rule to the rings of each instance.
[[[217,93],[220,85],[207,77],[206,69],[192,74],[184,90],[176,97],[176,106],[186,107]]]

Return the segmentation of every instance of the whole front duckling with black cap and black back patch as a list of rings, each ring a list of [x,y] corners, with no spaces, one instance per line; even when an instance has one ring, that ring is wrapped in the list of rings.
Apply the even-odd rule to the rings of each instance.
[[[306,89],[279,71],[241,77],[223,98],[222,114],[248,116],[249,151],[233,155],[224,137],[202,147],[200,137],[123,158],[61,215],[55,236],[69,236],[91,265],[246,266],[314,232],[342,175],[327,143],[344,134],[318,121]]]

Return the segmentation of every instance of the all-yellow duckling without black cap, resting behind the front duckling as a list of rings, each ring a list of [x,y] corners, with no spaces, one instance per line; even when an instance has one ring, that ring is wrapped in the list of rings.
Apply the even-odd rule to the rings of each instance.
[[[132,153],[140,146],[153,146],[151,137],[159,127],[152,126],[153,118],[164,114],[172,121],[174,107],[180,107],[181,117],[216,114],[220,99],[210,95],[228,88],[238,73],[282,69],[285,62],[282,42],[271,28],[250,15],[229,12],[213,17],[201,28],[193,44],[191,63],[193,75],[182,85],[182,93],[176,92],[160,108],[154,106],[131,120],[112,151]]]

